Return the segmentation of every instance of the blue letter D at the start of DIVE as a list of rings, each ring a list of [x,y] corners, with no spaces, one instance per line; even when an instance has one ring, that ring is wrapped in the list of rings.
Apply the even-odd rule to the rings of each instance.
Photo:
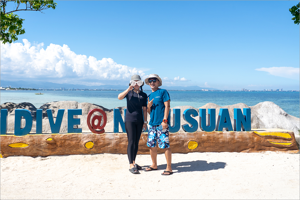
[[[22,117],[25,118],[25,127],[21,128]],[[32,128],[32,116],[29,110],[15,110],[15,136],[26,136]]]

